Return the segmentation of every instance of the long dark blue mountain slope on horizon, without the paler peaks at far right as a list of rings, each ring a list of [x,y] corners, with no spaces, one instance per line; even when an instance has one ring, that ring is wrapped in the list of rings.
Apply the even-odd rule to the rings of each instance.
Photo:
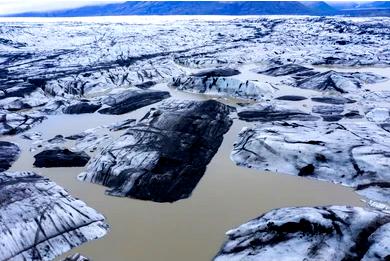
[[[107,15],[266,15],[314,14],[297,1],[135,1],[120,4],[88,6],[46,13],[24,13],[13,16],[107,16]]]

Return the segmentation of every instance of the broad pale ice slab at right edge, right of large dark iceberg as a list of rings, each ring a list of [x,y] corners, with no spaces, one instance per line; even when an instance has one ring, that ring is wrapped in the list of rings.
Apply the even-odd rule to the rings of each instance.
[[[354,188],[389,204],[390,135],[368,121],[274,122],[245,128],[231,157],[240,166]]]

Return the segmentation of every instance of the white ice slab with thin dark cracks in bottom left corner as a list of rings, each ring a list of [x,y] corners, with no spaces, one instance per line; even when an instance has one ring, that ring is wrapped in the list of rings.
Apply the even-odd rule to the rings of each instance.
[[[104,217],[32,172],[0,173],[0,260],[53,260],[104,236]]]

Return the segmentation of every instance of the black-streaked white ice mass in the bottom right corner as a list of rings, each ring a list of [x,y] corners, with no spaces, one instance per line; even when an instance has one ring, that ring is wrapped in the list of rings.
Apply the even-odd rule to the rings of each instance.
[[[272,210],[227,232],[215,261],[389,258],[390,216],[358,207]]]

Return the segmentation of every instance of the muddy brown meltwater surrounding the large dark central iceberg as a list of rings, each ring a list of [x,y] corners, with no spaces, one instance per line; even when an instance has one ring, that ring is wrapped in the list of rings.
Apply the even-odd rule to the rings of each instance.
[[[167,89],[163,85],[158,89]],[[170,90],[177,99],[209,99]],[[220,99],[227,104],[237,100]],[[103,124],[140,119],[148,106],[122,116],[100,114],[54,115],[29,132],[42,132],[44,139],[71,135]],[[110,224],[108,234],[71,250],[95,261],[200,261],[210,260],[225,240],[225,232],[271,209],[289,206],[355,205],[363,203],[349,188],[322,181],[237,167],[230,152],[237,134],[250,124],[234,120],[217,154],[189,199],[176,203],[153,203],[106,196],[105,188],[77,180],[84,168],[32,167],[31,141],[6,137],[17,143],[22,155],[11,170],[33,170],[66,188],[71,195],[103,213]],[[59,257],[57,260],[60,260]]]

